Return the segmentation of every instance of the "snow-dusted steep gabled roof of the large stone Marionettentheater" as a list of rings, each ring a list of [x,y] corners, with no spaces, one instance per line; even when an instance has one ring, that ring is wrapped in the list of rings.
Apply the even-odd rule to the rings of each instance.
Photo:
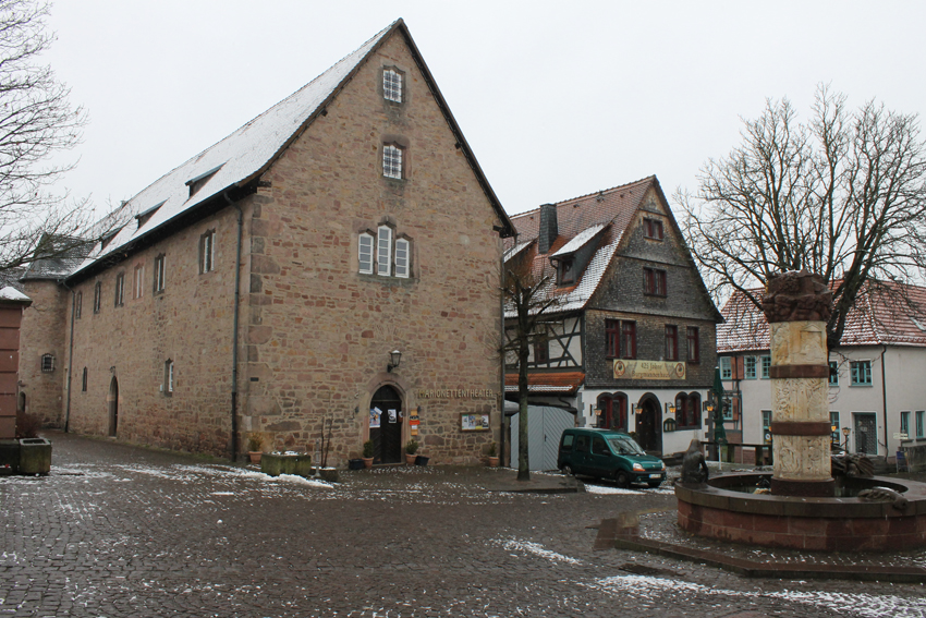
[[[341,59],[328,71],[247,122],[219,143],[174,168],[122,206],[133,219],[108,243],[99,243],[80,265],[84,269],[108,255],[130,250],[131,245],[184,215],[212,202],[226,191],[248,185],[260,177],[296,140],[350,82],[363,63],[393,34],[401,34],[425,81],[453,131],[459,147],[486,196],[498,214],[502,237],[513,228],[460,131],[443,96],[431,76],[405,23],[398,20]]]

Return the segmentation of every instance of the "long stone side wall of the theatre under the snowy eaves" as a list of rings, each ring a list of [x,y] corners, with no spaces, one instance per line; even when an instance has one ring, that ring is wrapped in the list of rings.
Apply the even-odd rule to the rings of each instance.
[[[249,199],[243,204],[246,213]],[[212,229],[216,267],[200,275],[199,238]],[[237,210],[229,207],[76,286],[75,291],[83,293],[83,307],[74,326],[72,431],[108,434],[108,398],[114,378],[119,439],[228,456],[236,234]],[[154,294],[155,258],[161,253],[166,286],[162,293]],[[142,298],[135,299],[138,264],[145,274]],[[125,274],[123,306],[114,306],[119,272]],[[98,280],[102,303],[95,314]],[[174,361],[170,397],[161,390],[168,359]],[[82,390],[84,367],[86,391]]]

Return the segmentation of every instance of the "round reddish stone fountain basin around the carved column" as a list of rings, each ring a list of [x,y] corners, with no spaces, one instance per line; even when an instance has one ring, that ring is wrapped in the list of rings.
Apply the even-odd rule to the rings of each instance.
[[[869,502],[856,497],[807,498],[748,494],[770,473],[723,474],[706,485],[675,485],[679,526],[699,536],[791,549],[863,552],[926,546],[926,484],[915,481],[840,477],[837,494],[854,496],[889,487],[907,502]]]

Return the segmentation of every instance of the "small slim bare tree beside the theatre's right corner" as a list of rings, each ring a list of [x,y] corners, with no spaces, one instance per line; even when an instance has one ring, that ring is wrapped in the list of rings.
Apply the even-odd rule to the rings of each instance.
[[[533,268],[529,262],[505,264],[502,293],[505,315],[513,317],[511,329],[505,328],[502,353],[514,356],[517,363],[517,480],[529,481],[527,445],[527,359],[531,347],[546,341],[546,319],[559,304],[550,276]]]

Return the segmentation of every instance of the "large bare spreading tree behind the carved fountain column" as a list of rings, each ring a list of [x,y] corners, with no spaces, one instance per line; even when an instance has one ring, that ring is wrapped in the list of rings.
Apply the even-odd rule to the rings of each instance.
[[[886,283],[926,264],[918,118],[874,100],[849,111],[844,95],[821,85],[809,122],[785,98],[743,123],[743,143],[708,160],[697,192],[675,194],[686,241],[717,298],[740,291],[758,306],[772,275],[821,275],[833,291],[832,349],[863,286],[902,293]]]

